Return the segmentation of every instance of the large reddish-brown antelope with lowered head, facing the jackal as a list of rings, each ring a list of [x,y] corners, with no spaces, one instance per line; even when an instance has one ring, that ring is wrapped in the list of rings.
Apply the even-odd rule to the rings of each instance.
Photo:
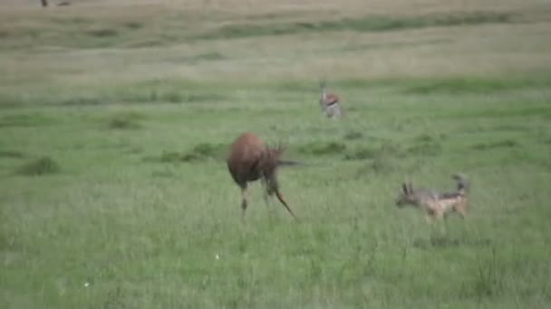
[[[258,179],[262,183],[266,203],[268,196],[275,193],[285,209],[296,219],[279,192],[279,183],[277,183],[277,168],[282,164],[295,164],[279,159],[284,152],[284,146],[269,147],[258,136],[248,132],[238,136],[230,146],[227,168],[241,189],[242,220],[245,220],[245,211],[247,211],[247,183],[256,182]]]

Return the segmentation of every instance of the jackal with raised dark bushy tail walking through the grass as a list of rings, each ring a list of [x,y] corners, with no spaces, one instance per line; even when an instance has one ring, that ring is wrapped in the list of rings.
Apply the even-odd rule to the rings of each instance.
[[[427,220],[430,220],[430,217],[442,220],[451,211],[459,212],[464,219],[467,216],[469,207],[469,182],[462,173],[455,173],[451,177],[457,182],[457,189],[454,192],[413,189],[411,183],[402,183],[396,206],[412,205],[420,207],[426,212]]]

